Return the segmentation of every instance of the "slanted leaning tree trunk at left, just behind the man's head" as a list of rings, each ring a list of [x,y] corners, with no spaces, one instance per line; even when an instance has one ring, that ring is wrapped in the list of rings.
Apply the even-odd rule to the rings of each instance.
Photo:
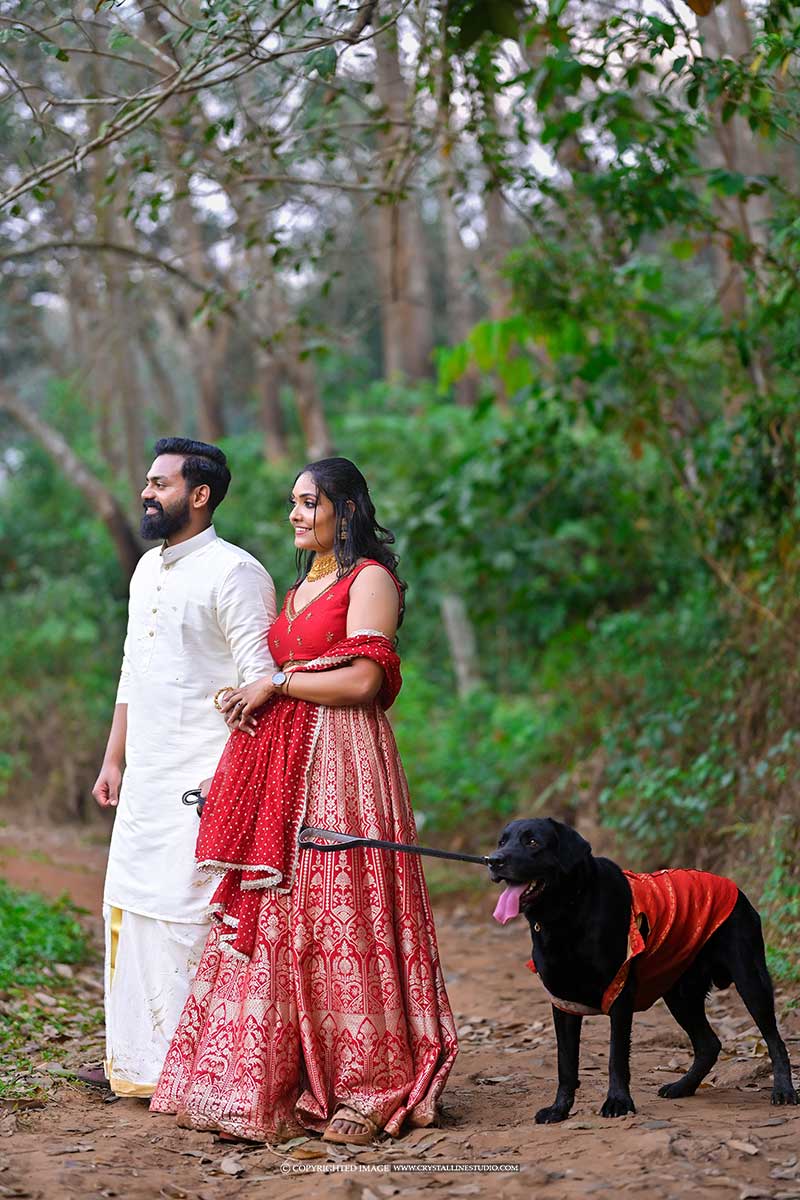
[[[37,416],[22,400],[5,389],[0,390],[0,409],[10,413],[50,456],[65,476],[79,487],[94,505],[97,516],[108,529],[120,566],[126,580],[133,575],[142,557],[142,546],[125,515],[125,511],[106,485],[80,461],[72,446],[52,425]]]

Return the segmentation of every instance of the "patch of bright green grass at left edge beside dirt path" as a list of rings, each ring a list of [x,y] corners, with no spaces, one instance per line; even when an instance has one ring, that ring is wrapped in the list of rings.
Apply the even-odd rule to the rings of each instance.
[[[83,962],[84,930],[68,900],[48,904],[0,880],[0,991],[41,984],[54,962]]]

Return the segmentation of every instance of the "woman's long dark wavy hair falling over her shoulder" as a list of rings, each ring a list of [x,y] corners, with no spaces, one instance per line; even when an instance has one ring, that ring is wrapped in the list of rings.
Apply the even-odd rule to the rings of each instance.
[[[366,479],[349,458],[320,458],[318,462],[309,462],[297,472],[295,484],[306,473],[314,480],[317,493],[324,492],[333,505],[336,521],[333,553],[338,564],[338,577],[347,575],[360,558],[374,558],[377,563],[386,566],[399,583],[403,596],[399,625],[403,619],[407,584],[397,575],[397,554],[389,550],[395,541],[395,534],[378,523]],[[312,560],[313,551],[297,551],[295,587],[305,580]]]

